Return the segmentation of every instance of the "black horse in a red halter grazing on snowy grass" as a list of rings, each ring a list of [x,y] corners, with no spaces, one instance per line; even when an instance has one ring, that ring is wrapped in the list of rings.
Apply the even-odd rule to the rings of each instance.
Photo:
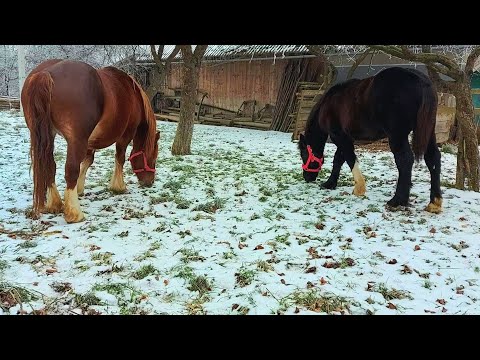
[[[350,167],[357,196],[365,194],[365,180],[354,151],[354,141],[373,142],[388,137],[398,168],[390,207],[408,206],[414,155],[423,155],[431,177],[430,203],[425,210],[440,213],[440,151],[435,138],[437,93],[431,80],[413,69],[392,67],[375,76],[332,86],[313,107],[300,135],[299,149],[305,181],[315,181],[323,164],[328,136],[337,146],[327,189],[337,186],[344,162]],[[408,136],[413,131],[413,153]]]

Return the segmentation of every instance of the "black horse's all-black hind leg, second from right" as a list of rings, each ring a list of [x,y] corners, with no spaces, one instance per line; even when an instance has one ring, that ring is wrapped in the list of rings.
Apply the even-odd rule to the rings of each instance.
[[[395,195],[387,202],[392,207],[408,206],[410,187],[412,185],[413,152],[408,143],[408,137],[389,137],[390,149],[395,156],[398,169],[398,181]]]

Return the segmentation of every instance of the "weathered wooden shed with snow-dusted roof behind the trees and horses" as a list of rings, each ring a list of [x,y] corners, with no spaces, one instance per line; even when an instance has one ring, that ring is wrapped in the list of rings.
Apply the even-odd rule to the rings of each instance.
[[[173,51],[166,45],[164,57]],[[338,71],[337,82],[347,78],[352,54],[330,54]],[[149,84],[153,60],[146,51],[138,59],[138,74],[144,86]],[[366,58],[353,74],[355,78],[375,75],[391,66],[414,67],[415,64],[377,54]],[[207,124],[243,126],[281,130],[298,134],[302,125],[295,123],[301,83],[322,84],[321,64],[305,45],[210,45],[207,48],[199,79],[197,120]],[[163,90],[155,99],[156,112],[164,119],[178,119],[182,78],[180,55],[174,59]],[[317,90],[323,91],[320,87]],[[310,100],[311,102],[311,100]],[[311,105],[311,104],[310,104]],[[453,122],[451,104],[439,104],[439,124],[443,139]],[[302,116],[308,108],[302,105]],[[281,126],[279,126],[279,124]],[[296,137],[294,134],[294,137]],[[442,140],[443,141],[443,140]]]

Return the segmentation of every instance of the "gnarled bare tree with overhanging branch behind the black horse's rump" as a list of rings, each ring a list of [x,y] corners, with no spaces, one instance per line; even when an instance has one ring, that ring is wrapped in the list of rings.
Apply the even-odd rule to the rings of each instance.
[[[429,45],[423,45],[422,52],[414,51],[411,46],[406,45],[371,45],[370,48],[400,59],[424,63],[437,90],[455,96],[456,119],[459,125],[455,187],[464,189],[465,180],[468,180],[468,188],[479,191],[480,156],[474,122],[471,78],[480,56],[480,46],[445,47],[441,52],[432,52]],[[450,80],[442,79],[440,74]]]

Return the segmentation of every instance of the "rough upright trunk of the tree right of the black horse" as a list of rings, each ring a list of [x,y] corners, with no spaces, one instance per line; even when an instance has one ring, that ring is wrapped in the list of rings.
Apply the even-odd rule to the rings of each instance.
[[[455,187],[465,188],[468,179],[468,189],[479,191],[480,157],[478,152],[477,133],[475,129],[475,113],[470,95],[470,81],[466,77],[458,84],[456,96],[456,117],[458,121],[458,154],[457,176]]]

